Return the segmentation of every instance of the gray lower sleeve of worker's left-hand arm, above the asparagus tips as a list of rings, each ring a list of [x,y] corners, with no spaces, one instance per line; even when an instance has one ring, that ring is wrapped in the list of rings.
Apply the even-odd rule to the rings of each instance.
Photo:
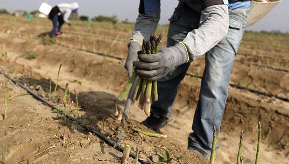
[[[156,30],[160,18],[160,9],[153,14],[139,14],[131,40],[148,40]]]

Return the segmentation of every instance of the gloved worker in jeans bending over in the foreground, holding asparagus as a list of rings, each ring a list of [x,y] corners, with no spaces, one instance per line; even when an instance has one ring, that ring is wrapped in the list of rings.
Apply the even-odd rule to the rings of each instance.
[[[143,39],[155,32],[160,16],[160,0],[140,2],[125,68],[129,77],[136,71],[143,79],[157,80],[158,87],[158,100],[142,123],[156,131],[168,124],[179,83],[190,63],[206,54],[193,132],[188,137],[188,149],[206,159],[213,125],[217,135],[220,131],[230,73],[250,4],[250,0],[179,0],[169,19],[167,46],[157,54],[137,55]]]

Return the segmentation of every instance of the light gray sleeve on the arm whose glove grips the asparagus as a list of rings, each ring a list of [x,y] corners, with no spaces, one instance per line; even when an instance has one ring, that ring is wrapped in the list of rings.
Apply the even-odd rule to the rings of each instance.
[[[228,5],[219,4],[202,10],[200,27],[192,30],[183,40],[189,61],[193,61],[205,54],[221,41],[229,29]]]

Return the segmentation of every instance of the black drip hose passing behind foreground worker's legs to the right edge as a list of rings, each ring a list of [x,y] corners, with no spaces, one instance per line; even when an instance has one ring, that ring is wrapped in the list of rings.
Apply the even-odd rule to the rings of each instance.
[[[194,74],[191,74],[191,73],[186,73],[186,75],[187,75],[187,76],[190,76],[190,77],[193,77],[193,78],[202,79],[201,76],[194,75]],[[261,92],[261,91],[255,90],[255,89],[250,89],[250,88],[246,88],[246,87],[239,86],[239,85],[236,85],[236,84],[232,84],[232,83],[230,83],[229,85],[232,86],[232,87],[234,87],[234,88],[237,88],[237,89],[244,89],[244,90],[248,90],[248,91],[250,91],[250,92],[256,93],[256,94],[260,94],[260,95],[264,95],[264,96],[268,96],[268,97],[275,97],[275,98],[277,98],[277,99],[280,99],[280,100],[289,102],[289,99],[288,99],[288,98],[280,97],[280,96],[274,95],[274,94],[272,94],[272,93],[265,93],[265,92]]]

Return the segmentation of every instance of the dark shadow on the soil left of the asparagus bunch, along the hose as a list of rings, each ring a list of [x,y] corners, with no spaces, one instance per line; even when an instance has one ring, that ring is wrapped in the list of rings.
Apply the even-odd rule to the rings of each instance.
[[[48,99],[47,93],[49,92],[49,83],[50,80],[47,79],[31,79],[31,78],[21,78],[19,79],[21,83],[26,84],[29,88],[33,89],[38,93],[41,97]],[[55,83],[51,83],[51,92],[54,91]],[[70,101],[71,105],[64,107],[62,103],[62,98],[64,95],[65,89],[61,87],[57,87],[57,98],[50,98],[50,102],[56,104],[61,109],[63,109],[67,114],[77,118],[76,112],[76,96],[74,91],[70,91]],[[69,95],[69,94],[68,94]],[[109,118],[115,118],[113,113],[115,111],[114,100],[117,97],[107,92],[103,91],[89,91],[89,92],[78,92],[78,102],[80,106],[79,119],[85,122],[86,126],[93,128],[97,131],[102,131],[104,129],[105,122]],[[73,102],[73,103],[72,103]],[[54,111],[55,112],[55,111]],[[61,126],[66,126],[70,128],[71,133],[75,133],[74,130],[77,129],[79,132],[88,134],[88,132],[82,128],[81,126],[73,125],[71,120],[65,119],[64,116],[57,114],[56,120],[65,120],[59,122]],[[106,124],[107,125],[107,124]],[[72,127],[74,126],[74,127]],[[117,127],[111,125],[110,128],[116,130]],[[106,134],[106,136],[110,136],[111,134]],[[102,150],[103,151],[103,150]]]

